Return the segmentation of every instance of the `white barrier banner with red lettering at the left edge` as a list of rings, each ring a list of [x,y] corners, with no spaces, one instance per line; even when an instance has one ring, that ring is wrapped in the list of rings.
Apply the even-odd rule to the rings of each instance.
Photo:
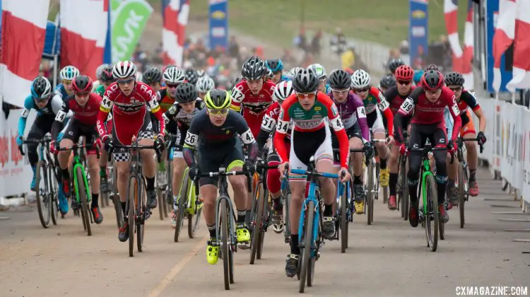
[[[11,110],[6,120],[4,112],[0,112],[0,196],[22,194],[30,191],[33,172],[28,158],[18,151],[16,136],[18,135],[18,118],[20,110]],[[26,122],[25,135],[30,131],[35,120],[35,112],[31,112]]]

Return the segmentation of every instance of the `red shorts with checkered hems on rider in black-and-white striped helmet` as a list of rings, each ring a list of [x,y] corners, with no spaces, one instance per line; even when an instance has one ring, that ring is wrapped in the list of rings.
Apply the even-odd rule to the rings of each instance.
[[[130,145],[132,136],[136,136],[138,141],[154,138],[153,122],[151,122],[151,117],[147,110],[143,113],[143,119],[141,120],[135,121],[135,117],[127,120],[127,117],[126,115],[119,115],[117,112],[114,112],[114,116],[112,117],[112,124],[114,124],[114,129],[112,129],[112,142],[114,144]],[[123,148],[116,148],[114,150],[114,162],[127,161],[129,161],[129,151]]]

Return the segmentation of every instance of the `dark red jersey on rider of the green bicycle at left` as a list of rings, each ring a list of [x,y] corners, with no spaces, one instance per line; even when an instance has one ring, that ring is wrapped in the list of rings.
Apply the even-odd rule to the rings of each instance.
[[[90,93],[86,105],[81,106],[77,103],[75,96],[71,95],[64,100],[61,110],[57,112],[54,124],[52,126],[52,139],[57,139],[57,134],[63,129],[63,122],[66,115],[73,112],[72,120],[76,120],[77,124],[82,124],[86,127],[95,127],[98,122],[98,115],[100,110],[102,98],[96,93]],[[95,131],[94,131],[95,132]]]

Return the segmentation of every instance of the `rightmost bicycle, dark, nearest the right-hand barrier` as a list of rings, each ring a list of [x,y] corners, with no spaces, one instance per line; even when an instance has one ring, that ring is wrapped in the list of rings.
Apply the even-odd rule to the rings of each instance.
[[[464,205],[469,200],[469,177],[468,165],[466,158],[464,158],[464,141],[477,141],[481,153],[484,151],[484,144],[478,138],[462,138],[457,140],[457,158],[458,166],[458,209],[460,213],[460,228],[464,228],[465,216]]]

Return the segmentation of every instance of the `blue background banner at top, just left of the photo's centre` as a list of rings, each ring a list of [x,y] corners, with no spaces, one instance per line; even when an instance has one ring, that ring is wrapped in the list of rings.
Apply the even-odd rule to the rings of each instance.
[[[228,48],[228,0],[210,0],[210,48]]]

